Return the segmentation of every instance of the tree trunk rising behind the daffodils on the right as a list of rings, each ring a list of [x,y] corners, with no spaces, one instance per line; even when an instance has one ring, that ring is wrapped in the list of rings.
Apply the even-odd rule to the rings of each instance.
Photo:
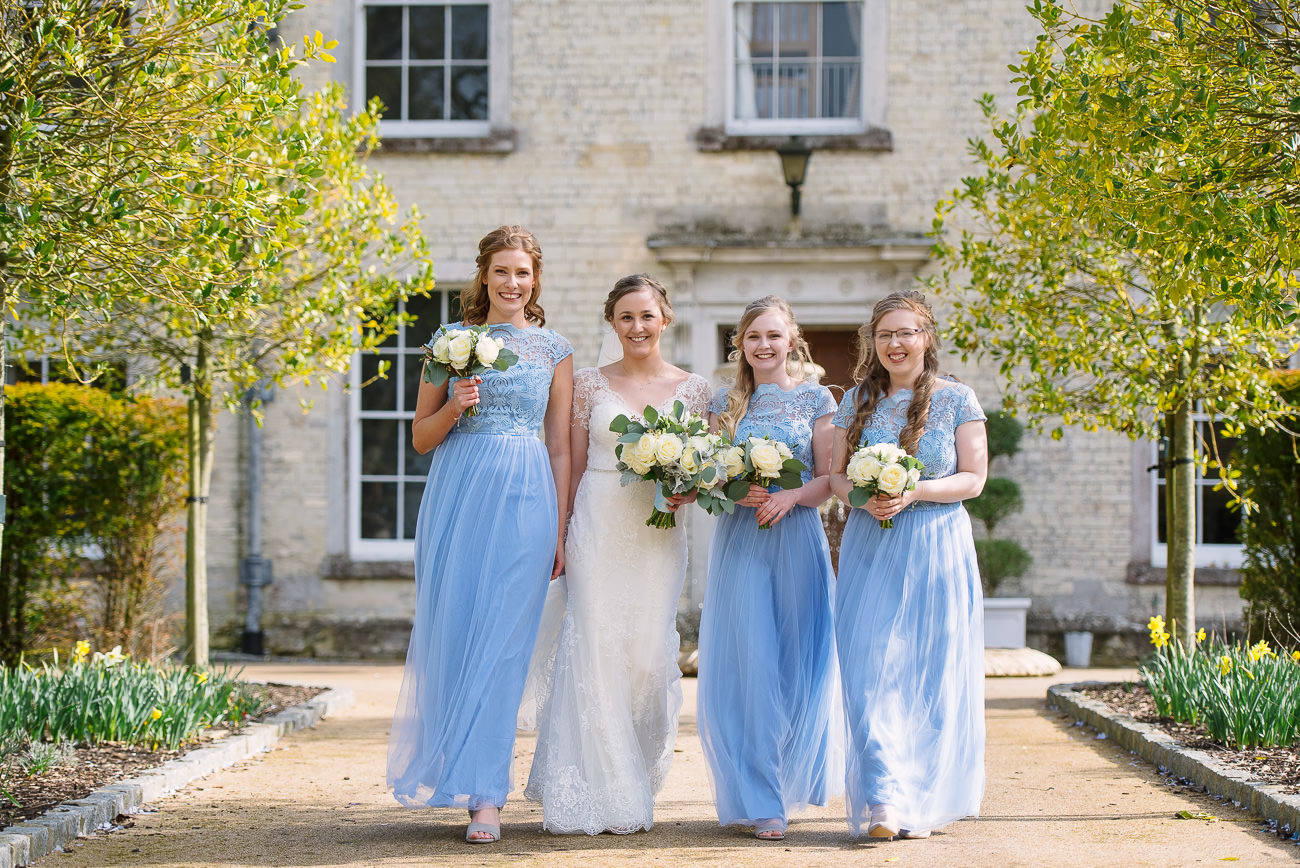
[[[1165,622],[1174,641],[1192,647],[1196,635],[1196,421],[1183,403],[1169,415],[1165,468]]]

